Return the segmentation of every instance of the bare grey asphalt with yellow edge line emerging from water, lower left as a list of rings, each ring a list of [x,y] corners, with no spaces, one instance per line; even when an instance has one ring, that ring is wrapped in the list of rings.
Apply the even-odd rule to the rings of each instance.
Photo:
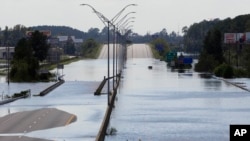
[[[6,137],[8,134],[18,135],[20,141],[36,140],[34,138],[22,138],[22,136],[36,130],[66,126],[75,120],[75,115],[55,108],[42,108],[9,114],[0,118],[0,140],[13,141],[13,138],[16,138]]]

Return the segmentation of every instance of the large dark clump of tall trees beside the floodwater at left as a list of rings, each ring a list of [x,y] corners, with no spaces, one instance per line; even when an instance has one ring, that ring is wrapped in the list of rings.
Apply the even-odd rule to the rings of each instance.
[[[39,80],[39,60],[46,58],[48,48],[46,36],[38,31],[29,38],[20,39],[11,62],[10,79],[18,82]]]

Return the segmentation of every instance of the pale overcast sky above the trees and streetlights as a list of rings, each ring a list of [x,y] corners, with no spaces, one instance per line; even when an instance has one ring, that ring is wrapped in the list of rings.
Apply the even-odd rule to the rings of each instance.
[[[182,27],[203,20],[249,14],[250,0],[0,0],[0,27],[21,24],[70,26],[87,32],[89,28],[102,29],[105,25],[88,6],[89,4],[111,20],[129,4],[119,19],[130,18],[127,27],[141,35],[160,32],[181,34]],[[126,20],[124,20],[125,22]]]

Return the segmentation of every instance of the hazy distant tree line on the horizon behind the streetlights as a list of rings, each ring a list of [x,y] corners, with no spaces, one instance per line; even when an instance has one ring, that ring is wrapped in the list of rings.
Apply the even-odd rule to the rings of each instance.
[[[35,31],[35,30],[50,30],[51,36],[75,36],[76,38],[88,40],[90,38],[95,39],[97,42],[106,43],[108,28],[104,27],[103,29],[99,28],[90,28],[87,32],[80,31],[78,29],[74,29],[67,26],[33,26],[33,27],[25,27],[23,25],[15,25],[10,28],[6,26],[4,29],[0,28],[0,46],[5,46],[6,44],[10,46],[15,46],[19,39],[26,36],[26,31]],[[110,35],[113,32],[110,31]],[[129,40],[133,43],[149,43],[155,39],[155,37],[160,37],[165,39],[169,44],[180,44],[182,40],[182,36],[179,33],[174,31],[167,32],[166,28],[163,28],[159,32],[155,33],[147,33],[145,35],[140,35],[138,33],[134,33],[132,31],[128,31]]]

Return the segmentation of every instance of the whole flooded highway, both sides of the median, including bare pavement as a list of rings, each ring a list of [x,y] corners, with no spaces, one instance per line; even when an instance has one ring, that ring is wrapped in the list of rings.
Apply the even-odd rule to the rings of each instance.
[[[94,91],[106,76],[106,58],[104,46],[98,59],[81,60],[59,70],[65,74],[65,83],[45,97],[0,106],[0,140],[95,140],[107,95],[94,96]],[[0,77],[4,94],[25,89],[38,94],[54,83],[7,86],[4,79]],[[249,79],[229,81],[250,87]],[[111,115],[109,127],[117,132],[105,140],[228,141],[230,124],[250,124],[249,101],[247,91],[192,69],[179,73],[154,59],[148,45],[133,44],[127,48]]]

